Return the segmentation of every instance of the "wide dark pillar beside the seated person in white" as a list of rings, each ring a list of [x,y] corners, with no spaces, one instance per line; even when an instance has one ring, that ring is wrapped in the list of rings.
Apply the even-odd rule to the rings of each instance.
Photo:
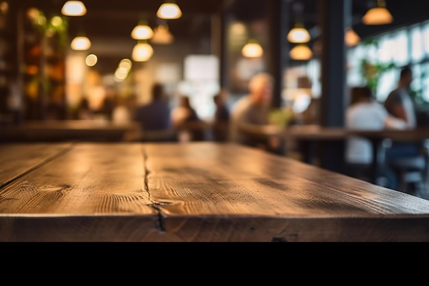
[[[321,27],[321,125],[343,127],[345,112],[346,61],[345,25],[351,16],[351,0],[319,0]],[[321,145],[320,164],[343,172],[344,141]]]

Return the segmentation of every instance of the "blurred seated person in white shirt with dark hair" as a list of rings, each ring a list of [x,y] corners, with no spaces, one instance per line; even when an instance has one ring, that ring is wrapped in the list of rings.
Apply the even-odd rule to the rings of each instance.
[[[352,104],[345,111],[345,127],[358,130],[382,130],[384,128],[405,129],[406,122],[387,112],[386,108],[374,99],[367,86],[352,88]],[[368,139],[358,136],[347,139],[345,161],[352,169],[367,170],[372,163],[372,147]],[[393,171],[387,169],[389,185],[395,189],[397,180]],[[361,174],[360,174],[361,175]]]

